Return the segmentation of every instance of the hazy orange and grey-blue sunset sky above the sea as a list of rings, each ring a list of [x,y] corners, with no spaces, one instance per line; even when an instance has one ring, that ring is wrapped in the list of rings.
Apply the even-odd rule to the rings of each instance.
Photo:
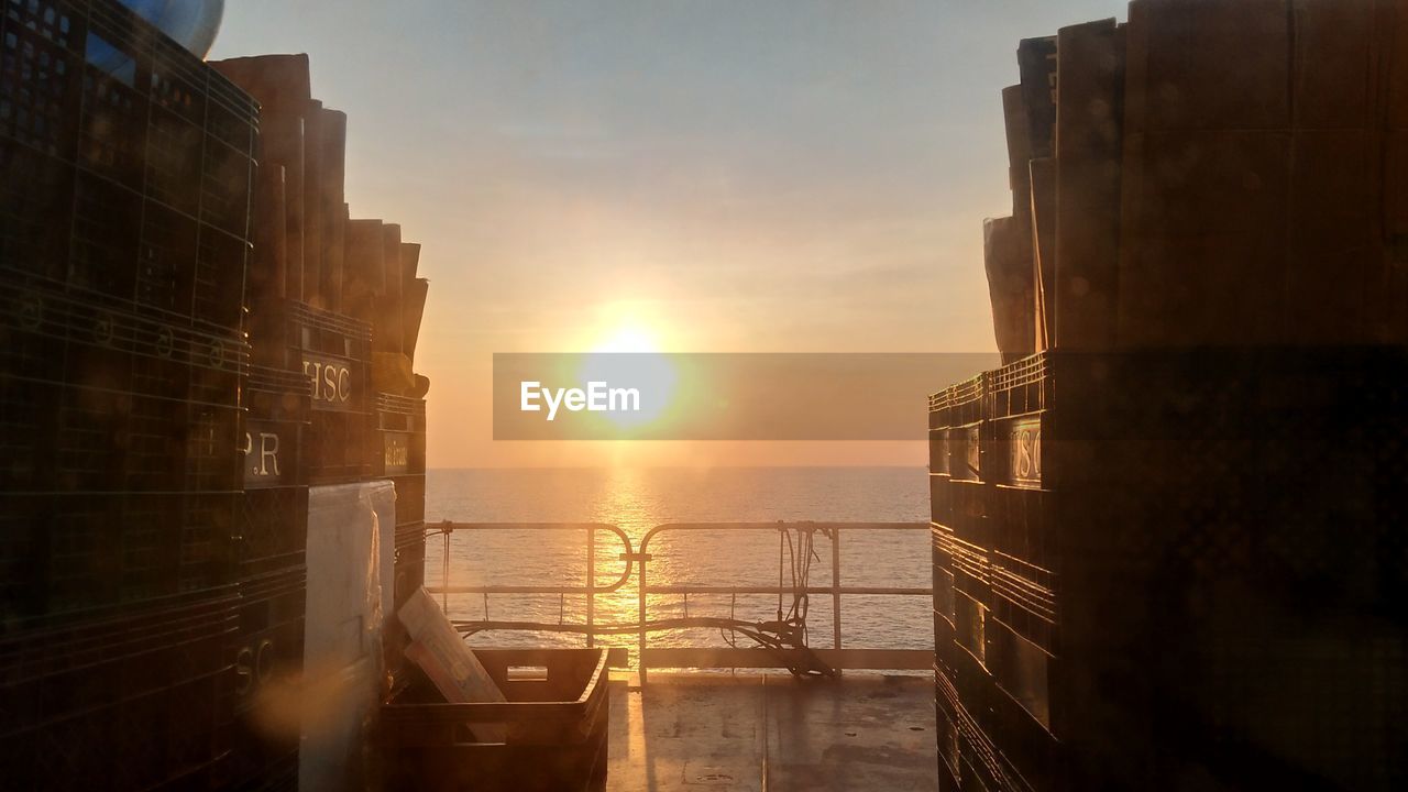
[[[431,466],[922,465],[919,443],[493,443],[491,355],[994,349],[1017,42],[1125,6],[234,0],[211,58],[307,52],[348,113],[352,216],[424,245]]]

